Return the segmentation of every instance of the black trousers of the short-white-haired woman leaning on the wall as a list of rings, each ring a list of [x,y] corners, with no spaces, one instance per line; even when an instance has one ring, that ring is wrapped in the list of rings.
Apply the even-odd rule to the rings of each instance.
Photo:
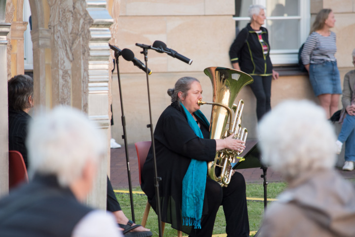
[[[250,88],[256,97],[256,116],[258,121],[271,110],[271,81],[272,76],[251,76],[254,82]]]

